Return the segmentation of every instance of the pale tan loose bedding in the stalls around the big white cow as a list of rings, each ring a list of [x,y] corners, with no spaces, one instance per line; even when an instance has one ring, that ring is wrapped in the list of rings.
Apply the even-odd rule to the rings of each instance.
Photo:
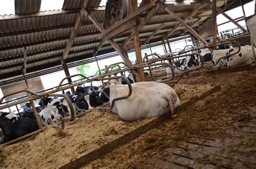
[[[208,84],[177,84],[181,104],[211,89]],[[200,91],[200,92],[198,92]],[[0,148],[0,167],[57,168],[109,143],[151,119],[123,121],[111,111],[93,110],[59,130],[52,125],[29,139]]]

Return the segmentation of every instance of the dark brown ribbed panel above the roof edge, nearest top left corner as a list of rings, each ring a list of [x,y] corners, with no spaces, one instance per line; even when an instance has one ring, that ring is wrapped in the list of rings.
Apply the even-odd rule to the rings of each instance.
[[[14,0],[9,0],[14,1]],[[15,0],[15,14],[27,15],[38,13],[41,8],[41,0]]]

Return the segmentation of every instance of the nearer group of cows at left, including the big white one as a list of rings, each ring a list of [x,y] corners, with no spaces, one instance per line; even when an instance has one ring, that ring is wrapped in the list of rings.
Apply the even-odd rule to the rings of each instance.
[[[176,92],[168,85],[156,82],[132,83],[132,94],[129,98],[118,100],[112,112],[127,121],[141,118],[149,118],[164,114],[179,106],[179,98]],[[126,83],[120,79],[110,80],[101,87],[77,86],[75,94],[67,92],[76,114],[92,109],[92,107],[103,105],[114,98],[125,96],[129,93]],[[104,94],[103,92],[106,94]],[[38,106],[36,110],[43,125],[50,125],[70,116],[71,111],[65,99],[57,97],[42,98],[39,105],[47,105],[43,110]],[[143,105],[143,106],[142,106]],[[24,136],[38,130],[36,118],[29,103],[23,107],[23,116],[19,118],[14,113],[0,112],[0,129],[4,134],[1,144]]]

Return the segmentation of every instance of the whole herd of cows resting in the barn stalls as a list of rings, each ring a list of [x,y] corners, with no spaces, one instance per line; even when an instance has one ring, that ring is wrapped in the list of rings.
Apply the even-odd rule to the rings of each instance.
[[[250,19],[247,25],[255,44],[256,31],[254,29],[256,28],[256,16]],[[225,57],[216,64],[220,57],[227,56],[237,50],[235,48],[228,49],[227,46],[225,48],[227,49],[221,49],[220,46],[218,50],[213,50],[212,52],[203,50],[201,55],[203,55],[204,62],[211,61],[211,64],[215,67],[232,67],[255,62],[252,54],[252,46],[247,45],[241,46],[240,52],[236,55]],[[199,66],[200,63],[199,56],[195,55],[174,62],[173,65],[180,70],[187,70]],[[174,67],[174,71],[180,73],[176,67]],[[171,73],[170,68],[167,68],[166,71],[167,73]],[[112,109],[113,113],[118,114],[120,118],[127,121],[159,116],[167,112],[171,112],[172,117],[174,117],[173,110],[180,105],[180,101],[172,87],[156,82],[135,83],[136,80],[134,80],[132,75],[129,75],[128,79],[132,85],[132,94],[126,99],[115,102]],[[129,93],[126,82],[120,79],[110,80],[106,84],[101,87],[77,86],[75,94],[67,92],[66,95],[70,98],[76,114],[103,105],[105,102],[112,104],[113,99],[123,97]],[[57,123],[65,116],[71,115],[68,102],[63,98],[42,98],[39,105],[47,105],[43,110],[39,106],[36,107],[38,118],[43,125]],[[21,118],[15,113],[0,112],[0,129],[4,134],[1,144],[38,130],[35,119],[29,103],[23,107]]]

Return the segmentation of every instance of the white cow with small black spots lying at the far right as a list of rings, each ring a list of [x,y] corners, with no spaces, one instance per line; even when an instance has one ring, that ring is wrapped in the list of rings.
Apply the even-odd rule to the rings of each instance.
[[[254,48],[255,49],[255,48]],[[228,55],[228,53],[234,53],[237,51],[237,48],[233,49],[223,49],[223,50],[214,50],[212,52],[212,65],[217,63],[220,57]],[[253,58],[252,46],[246,45],[241,46],[241,50],[238,54],[233,55],[229,58],[223,58],[219,61],[217,65],[214,67],[232,67],[237,65],[244,65],[244,64],[252,64],[255,60]]]

